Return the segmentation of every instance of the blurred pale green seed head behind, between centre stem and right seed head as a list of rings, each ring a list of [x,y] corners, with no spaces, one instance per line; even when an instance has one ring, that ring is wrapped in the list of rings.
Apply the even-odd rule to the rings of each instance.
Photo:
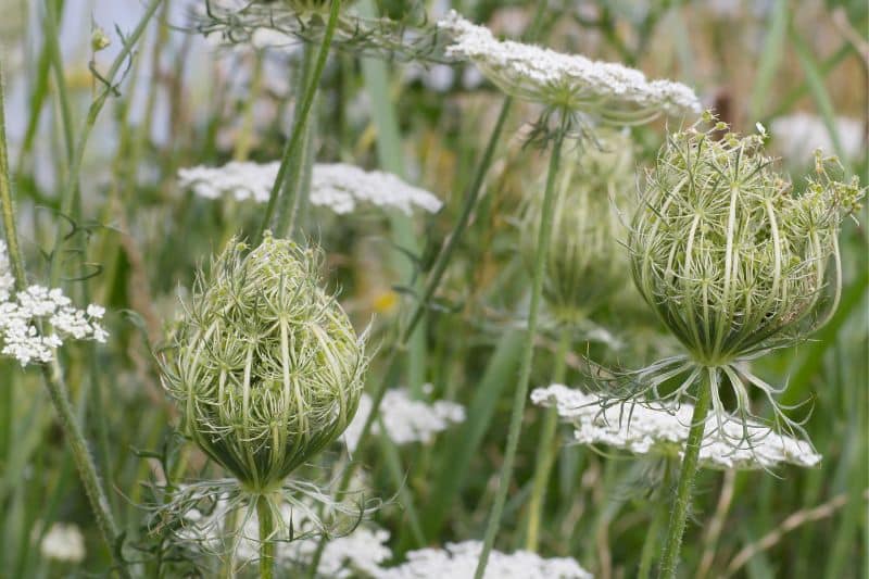
[[[543,298],[564,323],[587,316],[627,278],[628,263],[617,241],[625,238],[625,226],[612,204],[625,206],[633,197],[631,143],[628,136],[616,130],[603,130],[595,140],[595,146],[568,153],[556,182]],[[532,196],[521,232],[529,266],[533,264],[542,211],[542,196]]]

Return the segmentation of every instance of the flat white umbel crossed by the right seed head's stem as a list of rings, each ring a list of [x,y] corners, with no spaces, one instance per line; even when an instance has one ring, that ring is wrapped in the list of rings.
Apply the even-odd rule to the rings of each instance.
[[[563,385],[538,388],[531,401],[555,407],[574,425],[580,444],[605,444],[634,454],[682,454],[691,428],[692,404],[679,406],[658,402],[614,402]],[[707,468],[772,468],[783,463],[810,467],[821,456],[805,441],[771,431],[741,418],[706,420],[700,462]]]

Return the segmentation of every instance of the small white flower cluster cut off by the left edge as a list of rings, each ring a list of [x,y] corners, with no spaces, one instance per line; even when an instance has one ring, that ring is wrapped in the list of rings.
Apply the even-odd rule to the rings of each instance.
[[[13,286],[5,243],[0,242],[0,353],[26,366],[51,362],[66,338],[105,342],[109,333],[100,324],[103,307],[90,304],[79,310],[56,288],[29,286],[14,292]]]

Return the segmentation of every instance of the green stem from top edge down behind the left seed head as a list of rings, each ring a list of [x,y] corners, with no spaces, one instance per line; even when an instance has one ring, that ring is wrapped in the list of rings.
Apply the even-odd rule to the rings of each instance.
[[[265,214],[263,215],[263,223],[260,226],[260,230],[256,234],[256,238],[254,239],[254,246],[259,246],[263,239],[263,234],[265,232],[266,228],[269,226],[274,226],[276,229],[276,235],[280,236],[282,230],[287,227],[289,223],[290,212],[294,207],[295,203],[293,198],[297,194],[295,187],[290,188],[291,178],[295,175],[295,180],[298,180],[298,176],[302,175],[301,165],[304,162],[304,154],[302,154],[302,146],[305,141],[305,130],[306,125],[308,122],[308,116],[311,113],[311,109],[314,104],[314,97],[317,92],[317,86],[319,85],[319,78],[323,76],[323,70],[326,67],[326,59],[329,55],[329,47],[332,43],[332,37],[335,36],[335,29],[338,26],[338,15],[341,12],[341,0],[331,0],[331,7],[329,9],[329,20],[326,23],[326,30],[323,35],[323,41],[319,46],[319,52],[317,52],[317,60],[314,64],[314,70],[310,75],[302,76],[302,83],[304,83],[304,96],[302,97],[302,102],[298,109],[298,114],[294,114],[293,118],[293,128],[292,135],[290,136],[290,140],[287,141],[287,146],[284,149],[284,155],[280,160],[280,167],[278,168],[278,176],[275,179],[275,185],[272,187],[272,191],[268,196],[268,205],[266,205]],[[287,175],[287,172],[290,172]],[[285,180],[287,180],[285,186]],[[281,194],[281,190],[282,194]],[[280,211],[277,215],[275,215],[275,209],[277,209],[278,198],[280,198],[281,206]],[[275,223],[273,223],[273,218]]]

